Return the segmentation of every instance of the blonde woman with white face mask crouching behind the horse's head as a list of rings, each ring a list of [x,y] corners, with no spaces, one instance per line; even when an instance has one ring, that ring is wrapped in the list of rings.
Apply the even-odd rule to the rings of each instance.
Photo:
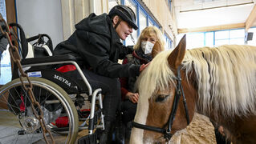
[[[161,30],[156,26],[148,26],[142,30],[136,45],[133,46],[133,53],[128,54],[123,60],[123,64],[132,63],[136,65],[146,65],[152,60],[152,47],[158,43],[159,51],[165,50],[165,40]],[[127,125],[132,121],[136,114],[136,103],[139,99],[139,94],[134,90],[136,77],[120,78],[121,94],[122,94],[122,112],[123,122]],[[130,130],[127,129],[126,138],[129,138]]]

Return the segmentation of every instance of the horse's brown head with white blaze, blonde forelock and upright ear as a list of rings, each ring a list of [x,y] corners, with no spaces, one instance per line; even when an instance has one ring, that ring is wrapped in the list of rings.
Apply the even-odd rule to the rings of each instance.
[[[193,82],[185,77],[184,70],[179,70],[185,57],[185,47],[184,36],[170,54],[167,51],[157,54],[148,68],[140,74],[137,82],[140,99],[131,143],[169,141],[172,134],[184,129],[192,120],[197,91],[190,85]],[[179,95],[180,98],[176,98],[181,91],[184,92]],[[183,104],[185,98],[186,106]]]

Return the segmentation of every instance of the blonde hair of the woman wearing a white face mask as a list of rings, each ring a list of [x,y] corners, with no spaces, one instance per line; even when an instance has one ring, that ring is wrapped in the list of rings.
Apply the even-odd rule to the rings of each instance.
[[[141,39],[143,39],[145,36],[152,36],[153,34],[156,34],[157,41],[161,45],[161,50],[165,50],[165,39],[163,37],[163,34],[161,33],[161,30],[159,30],[156,26],[148,26],[145,27],[144,30],[141,31],[140,37],[138,38],[138,41],[136,42],[136,45],[133,46],[134,50],[137,50],[140,48]]]

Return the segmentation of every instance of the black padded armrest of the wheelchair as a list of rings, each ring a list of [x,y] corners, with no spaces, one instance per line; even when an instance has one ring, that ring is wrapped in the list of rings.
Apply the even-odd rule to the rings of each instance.
[[[22,65],[31,65],[31,64],[43,64],[48,62],[66,62],[66,61],[75,61],[76,58],[70,54],[66,55],[55,55],[47,56],[41,58],[26,58],[22,59]]]

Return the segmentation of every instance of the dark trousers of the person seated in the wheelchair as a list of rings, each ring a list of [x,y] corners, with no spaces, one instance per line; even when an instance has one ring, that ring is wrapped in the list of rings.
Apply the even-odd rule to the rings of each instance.
[[[121,101],[120,81],[118,78],[108,78],[99,74],[95,74],[90,70],[82,68],[83,74],[91,85],[92,90],[101,88],[104,95],[104,119],[113,122],[116,119],[116,110]],[[80,77],[77,77],[80,78]]]

